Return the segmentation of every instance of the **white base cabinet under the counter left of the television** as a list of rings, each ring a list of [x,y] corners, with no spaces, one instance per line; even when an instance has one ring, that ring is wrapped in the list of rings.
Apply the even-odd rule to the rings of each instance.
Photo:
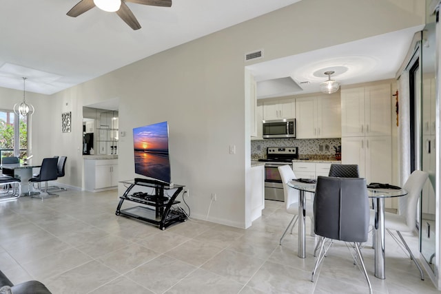
[[[118,160],[85,160],[85,189],[104,191],[118,186]]]

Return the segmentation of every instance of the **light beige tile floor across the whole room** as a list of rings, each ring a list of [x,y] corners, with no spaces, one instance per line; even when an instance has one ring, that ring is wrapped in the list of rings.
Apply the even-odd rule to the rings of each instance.
[[[266,201],[247,230],[187,220],[161,231],[115,216],[116,191],[64,191],[60,197],[0,202],[0,269],[14,283],[43,282],[52,293],[368,293],[344,243],[334,244],[310,282],[314,237],[297,257],[291,216]],[[307,220],[309,232],[309,220]],[[418,253],[418,238],[404,236]],[[373,293],[438,293],[387,236],[386,280],[373,276],[373,249],[362,253]]]

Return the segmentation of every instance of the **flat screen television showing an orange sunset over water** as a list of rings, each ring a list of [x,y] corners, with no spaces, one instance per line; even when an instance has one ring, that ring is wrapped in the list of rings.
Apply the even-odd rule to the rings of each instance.
[[[170,184],[168,122],[133,129],[135,174]]]

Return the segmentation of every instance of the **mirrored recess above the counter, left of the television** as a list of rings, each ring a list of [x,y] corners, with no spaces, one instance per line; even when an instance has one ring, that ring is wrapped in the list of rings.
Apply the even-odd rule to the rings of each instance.
[[[83,107],[83,155],[117,155],[118,111]]]

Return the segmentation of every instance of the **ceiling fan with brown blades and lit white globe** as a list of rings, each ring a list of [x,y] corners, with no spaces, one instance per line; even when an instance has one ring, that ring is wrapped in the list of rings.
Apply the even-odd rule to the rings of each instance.
[[[139,30],[141,25],[125,2],[150,6],[172,6],[172,0],[81,0],[79,3],[76,3],[67,14],[70,17],[78,17],[80,14],[83,14],[96,6],[107,12],[116,12],[116,14],[118,14],[119,17],[130,26],[130,28],[133,30]]]

